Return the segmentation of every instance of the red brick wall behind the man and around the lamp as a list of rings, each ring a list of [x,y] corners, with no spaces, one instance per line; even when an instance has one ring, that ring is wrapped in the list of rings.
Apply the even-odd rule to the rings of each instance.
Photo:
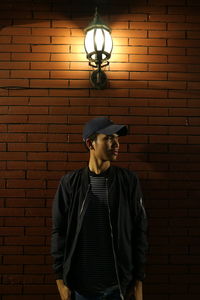
[[[130,130],[117,164],[138,173],[149,215],[144,299],[199,299],[200,1],[104,5],[114,48],[103,91],[83,47],[94,9],[69,2],[0,4],[0,299],[59,299],[52,199],[87,164],[82,126],[102,115]]]

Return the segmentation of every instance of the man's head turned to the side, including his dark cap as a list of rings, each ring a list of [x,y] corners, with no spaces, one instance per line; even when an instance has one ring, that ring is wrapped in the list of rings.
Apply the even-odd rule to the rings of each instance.
[[[117,125],[106,117],[99,117],[85,125],[83,142],[96,158],[112,161],[118,155],[119,136],[126,135],[127,132],[125,125]]]

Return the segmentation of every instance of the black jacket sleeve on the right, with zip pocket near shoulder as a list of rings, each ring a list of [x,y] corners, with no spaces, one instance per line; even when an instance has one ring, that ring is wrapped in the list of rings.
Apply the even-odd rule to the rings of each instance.
[[[132,201],[134,203],[134,218],[133,218],[133,239],[132,253],[134,261],[133,280],[143,281],[146,277],[145,263],[146,252],[148,250],[147,228],[148,220],[143,204],[143,195],[141,192],[138,176],[134,176],[134,188],[132,191]]]

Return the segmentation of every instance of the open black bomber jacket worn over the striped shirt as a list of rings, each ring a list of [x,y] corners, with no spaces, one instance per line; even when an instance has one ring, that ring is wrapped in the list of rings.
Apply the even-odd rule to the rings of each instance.
[[[62,176],[52,207],[51,255],[56,279],[68,285],[68,274],[78,234],[88,205],[88,167]],[[108,196],[117,202],[113,225],[114,256],[122,299],[129,285],[145,278],[147,216],[139,179],[134,171],[111,166]]]

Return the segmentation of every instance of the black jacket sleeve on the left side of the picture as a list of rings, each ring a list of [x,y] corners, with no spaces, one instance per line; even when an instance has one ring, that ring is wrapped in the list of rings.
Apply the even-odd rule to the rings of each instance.
[[[58,185],[52,205],[52,233],[51,255],[53,257],[53,271],[56,279],[63,278],[63,261],[65,237],[67,230],[67,212],[69,193],[63,176]]]

